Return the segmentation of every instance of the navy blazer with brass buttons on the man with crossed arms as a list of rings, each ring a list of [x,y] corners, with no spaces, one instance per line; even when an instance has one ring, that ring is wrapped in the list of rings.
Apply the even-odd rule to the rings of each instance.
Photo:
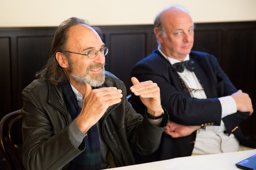
[[[132,76],[139,81],[152,80],[160,87],[161,103],[169,113],[170,120],[181,125],[201,126],[221,123],[221,104],[218,98],[236,92],[236,87],[219,66],[215,56],[203,52],[191,51],[190,60],[195,62],[195,73],[204,87],[207,99],[191,98],[189,92],[183,91],[181,80],[170,62],[158,50],[139,61],[132,68]],[[131,104],[139,113],[144,113],[145,106],[139,98],[132,95]],[[222,118],[228,134],[231,132],[241,144],[256,148],[256,144],[245,139],[239,124],[249,116],[247,113],[233,113]],[[157,161],[181,156],[190,156],[195,143],[196,132],[172,138],[165,133],[159,150],[138,163]]]

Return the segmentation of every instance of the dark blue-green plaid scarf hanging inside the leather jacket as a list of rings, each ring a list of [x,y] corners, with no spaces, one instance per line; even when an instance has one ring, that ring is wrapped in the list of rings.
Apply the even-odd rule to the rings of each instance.
[[[60,83],[69,113],[74,120],[81,112],[77,99],[68,80]],[[92,126],[87,136],[86,149],[71,161],[71,169],[101,169],[101,154],[97,125]]]

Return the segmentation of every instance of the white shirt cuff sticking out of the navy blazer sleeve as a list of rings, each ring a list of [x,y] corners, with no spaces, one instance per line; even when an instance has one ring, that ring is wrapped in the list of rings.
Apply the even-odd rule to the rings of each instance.
[[[237,112],[237,104],[236,101],[234,101],[234,99],[232,98],[232,96],[228,95],[218,99],[221,103],[222,108],[221,118]]]

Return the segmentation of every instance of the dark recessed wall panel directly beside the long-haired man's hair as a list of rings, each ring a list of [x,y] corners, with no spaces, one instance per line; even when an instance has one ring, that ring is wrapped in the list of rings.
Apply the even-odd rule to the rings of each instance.
[[[34,79],[37,71],[45,66],[50,56],[53,36],[25,36],[17,38],[18,51],[18,99],[22,102],[22,90]],[[18,104],[22,107],[22,103]]]

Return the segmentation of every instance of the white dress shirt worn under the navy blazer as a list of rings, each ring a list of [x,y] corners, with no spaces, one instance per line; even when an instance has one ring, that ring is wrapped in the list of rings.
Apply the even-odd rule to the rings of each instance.
[[[175,64],[180,62],[179,60],[167,57],[158,47],[159,52],[170,62],[170,64]],[[184,61],[189,60],[189,54],[186,56]],[[186,87],[193,89],[202,89],[200,82],[195,74],[195,72],[189,71],[184,67],[183,72],[177,72],[180,78],[185,83]],[[202,91],[191,91],[191,98],[206,99],[207,96]],[[229,114],[237,112],[237,105],[231,96],[224,96],[218,98],[222,107],[222,117]],[[228,136],[224,133],[226,130],[223,121],[221,120],[220,126],[206,126],[206,129],[197,130],[197,137],[195,142],[195,147],[192,154],[217,154],[226,152],[236,152],[239,149],[239,141],[234,137],[233,134]]]

